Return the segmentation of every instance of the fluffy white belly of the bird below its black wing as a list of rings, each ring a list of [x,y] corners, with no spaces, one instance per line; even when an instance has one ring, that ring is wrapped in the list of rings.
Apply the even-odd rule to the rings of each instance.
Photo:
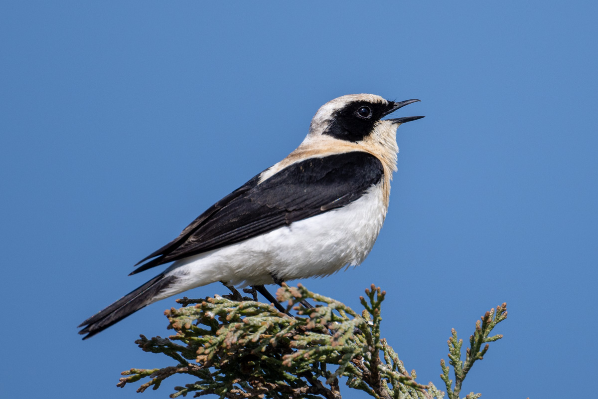
[[[382,184],[343,208],[175,261],[167,274],[179,276],[180,283],[156,300],[217,281],[272,284],[271,275],[285,281],[327,276],[362,263],[386,216]]]

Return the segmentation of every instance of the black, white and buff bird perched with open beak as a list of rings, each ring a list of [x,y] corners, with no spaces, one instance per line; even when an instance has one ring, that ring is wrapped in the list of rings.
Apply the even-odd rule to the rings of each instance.
[[[383,118],[418,101],[358,94],[322,105],[287,157],[139,261],[130,275],[172,264],[81,323],[83,339],[148,304],[214,282],[251,285],[272,301],[264,285],[361,264],[388,211],[396,129],[423,116]]]

